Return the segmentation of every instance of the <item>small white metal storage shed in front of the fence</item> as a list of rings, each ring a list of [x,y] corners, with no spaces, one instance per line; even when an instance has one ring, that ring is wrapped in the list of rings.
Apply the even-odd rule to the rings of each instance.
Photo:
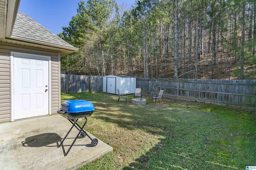
[[[133,94],[136,88],[136,77],[109,75],[103,77],[102,92],[110,94],[120,93]]]

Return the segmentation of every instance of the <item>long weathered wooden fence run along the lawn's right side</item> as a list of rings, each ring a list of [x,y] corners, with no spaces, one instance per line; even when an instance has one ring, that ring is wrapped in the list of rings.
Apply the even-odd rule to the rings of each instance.
[[[256,80],[158,79],[158,91],[182,100],[256,109]]]

